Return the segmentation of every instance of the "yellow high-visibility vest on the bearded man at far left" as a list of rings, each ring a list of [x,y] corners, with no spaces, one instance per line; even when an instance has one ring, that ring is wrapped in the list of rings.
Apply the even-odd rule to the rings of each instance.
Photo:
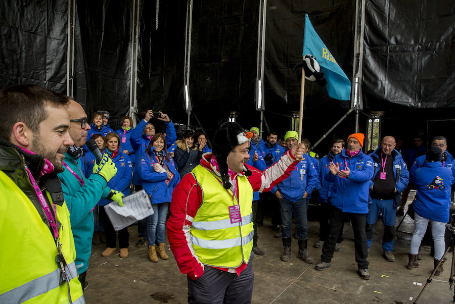
[[[28,182],[24,172],[19,183]],[[33,188],[30,186],[30,190]],[[48,201],[49,192],[44,191]],[[68,286],[56,263],[58,250],[49,227],[32,201],[3,171],[0,171],[0,303],[69,303]],[[56,205],[62,254],[67,262],[73,303],[85,303],[74,260],[73,233],[65,202]]]

